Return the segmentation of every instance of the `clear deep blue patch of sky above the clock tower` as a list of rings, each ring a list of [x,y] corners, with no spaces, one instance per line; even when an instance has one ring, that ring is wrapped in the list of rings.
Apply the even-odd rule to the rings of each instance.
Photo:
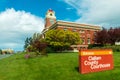
[[[51,8],[57,13],[58,19],[64,20],[65,16],[66,19],[70,20],[78,18],[76,9],[61,0],[2,0],[0,6],[0,11],[14,8],[16,11],[24,10],[42,18],[44,18],[46,11]],[[69,18],[70,15],[72,15],[71,18]]]

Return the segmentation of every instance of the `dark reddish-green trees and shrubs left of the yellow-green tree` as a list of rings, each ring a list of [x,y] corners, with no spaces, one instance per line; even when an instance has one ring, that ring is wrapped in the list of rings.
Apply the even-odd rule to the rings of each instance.
[[[26,38],[24,49],[28,52],[36,52],[38,54],[45,54],[46,43],[41,41],[41,34],[34,33],[32,37]]]

